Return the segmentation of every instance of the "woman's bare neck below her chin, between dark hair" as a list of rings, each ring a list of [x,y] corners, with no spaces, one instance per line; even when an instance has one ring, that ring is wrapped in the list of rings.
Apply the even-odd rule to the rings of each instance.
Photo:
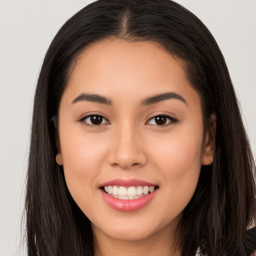
[[[139,240],[119,240],[98,232],[92,226],[94,236],[94,256],[180,256],[174,232],[156,232]]]

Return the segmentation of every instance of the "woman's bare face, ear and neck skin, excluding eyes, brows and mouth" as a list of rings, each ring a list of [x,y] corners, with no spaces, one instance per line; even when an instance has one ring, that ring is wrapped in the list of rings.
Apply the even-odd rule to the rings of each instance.
[[[174,92],[185,100],[141,105],[145,98]],[[81,93],[102,95],[112,105],[72,101]],[[100,114],[100,125],[81,117]],[[155,115],[177,121],[157,125]],[[87,125],[86,125],[87,124]],[[213,144],[203,132],[198,93],[182,61],[149,41],[102,40],[77,59],[59,106],[56,160],[67,187],[90,219],[95,255],[180,255],[175,229],[191,199],[202,164],[212,162]],[[157,184],[139,210],[121,212],[102,199],[99,184],[139,178]],[[172,246],[173,245],[173,246]]]

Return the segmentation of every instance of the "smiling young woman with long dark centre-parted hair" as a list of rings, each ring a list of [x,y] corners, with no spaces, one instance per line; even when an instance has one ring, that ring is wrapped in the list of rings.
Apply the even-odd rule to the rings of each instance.
[[[254,174],[223,56],[191,12],[99,0],[58,31],[34,98],[28,255],[251,255]]]

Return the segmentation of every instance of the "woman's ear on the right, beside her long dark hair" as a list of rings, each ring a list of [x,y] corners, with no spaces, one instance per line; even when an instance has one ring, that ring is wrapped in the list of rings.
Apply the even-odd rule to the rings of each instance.
[[[204,134],[202,149],[202,165],[209,165],[213,162],[215,149],[216,115],[212,113],[209,118],[209,125]]]

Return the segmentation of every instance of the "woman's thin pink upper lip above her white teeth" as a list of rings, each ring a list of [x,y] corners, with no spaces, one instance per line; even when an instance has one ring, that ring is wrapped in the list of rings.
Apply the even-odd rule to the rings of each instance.
[[[112,180],[108,180],[102,184],[99,185],[99,187],[102,186],[125,186],[125,187],[129,187],[129,186],[156,186],[156,184],[147,182],[145,180],[142,179],[138,179],[138,178],[130,178],[130,179],[123,179],[123,178],[115,178]]]

